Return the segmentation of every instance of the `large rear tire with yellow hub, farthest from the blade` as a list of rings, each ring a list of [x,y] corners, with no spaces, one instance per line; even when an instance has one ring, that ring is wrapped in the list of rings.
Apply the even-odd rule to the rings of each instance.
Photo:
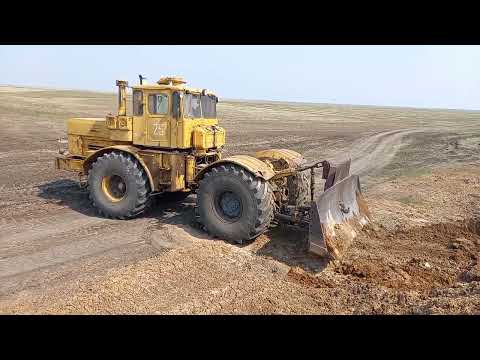
[[[101,215],[130,219],[145,211],[150,184],[134,157],[115,151],[93,163],[88,173],[88,189],[90,200]]]

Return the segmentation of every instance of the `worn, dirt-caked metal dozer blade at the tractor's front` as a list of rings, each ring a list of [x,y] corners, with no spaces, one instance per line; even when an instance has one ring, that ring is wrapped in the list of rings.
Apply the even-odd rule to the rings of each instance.
[[[370,222],[370,217],[358,175],[335,183],[312,203],[310,251],[340,259],[361,228]]]

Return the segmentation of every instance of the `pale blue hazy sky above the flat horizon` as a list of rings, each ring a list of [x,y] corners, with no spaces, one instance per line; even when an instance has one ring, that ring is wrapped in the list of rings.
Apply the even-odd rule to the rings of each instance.
[[[0,84],[116,91],[177,75],[223,99],[480,110],[480,46],[0,45]]]

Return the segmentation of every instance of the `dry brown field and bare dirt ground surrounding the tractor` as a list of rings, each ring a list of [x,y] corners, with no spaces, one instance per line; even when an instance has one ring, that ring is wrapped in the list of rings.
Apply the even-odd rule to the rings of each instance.
[[[374,223],[326,264],[281,228],[245,246],[210,238],[194,196],[98,217],[53,157],[67,118],[115,102],[0,86],[0,313],[480,313],[480,112],[221,101],[226,155],[352,158]]]

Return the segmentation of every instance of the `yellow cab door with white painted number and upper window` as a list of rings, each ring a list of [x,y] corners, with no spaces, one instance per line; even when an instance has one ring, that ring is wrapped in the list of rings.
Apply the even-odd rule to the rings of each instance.
[[[149,91],[145,94],[146,146],[171,147],[171,96],[168,91]]]

